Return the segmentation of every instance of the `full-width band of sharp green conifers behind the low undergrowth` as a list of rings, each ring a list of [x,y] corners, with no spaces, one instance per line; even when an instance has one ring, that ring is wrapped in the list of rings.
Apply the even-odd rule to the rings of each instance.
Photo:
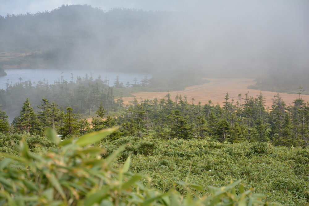
[[[221,107],[211,101],[201,105],[194,99],[176,96],[165,99],[135,99],[132,105],[117,102],[118,115],[107,114],[101,103],[91,124],[77,119],[72,108],[59,110],[56,103],[42,100],[37,114],[29,100],[23,104],[20,115],[11,127],[7,116],[1,114],[2,132],[30,132],[43,134],[45,128],[55,128],[61,135],[81,135],[90,131],[120,125],[110,138],[123,136],[154,136],[163,139],[192,139],[212,137],[221,142],[264,141],[274,145],[308,145],[309,103],[299,98],[293,106],[286,106],[279,95],[273,98],[271,109],[265,109],[263,95],[256,98],[239,94],[238,101],[230,100],[228,93]]]

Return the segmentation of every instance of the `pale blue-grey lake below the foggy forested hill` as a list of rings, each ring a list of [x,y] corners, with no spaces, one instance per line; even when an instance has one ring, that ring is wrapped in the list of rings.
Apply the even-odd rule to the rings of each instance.
[[[133,79],[137,78],[140,82],[146,74],[140,73],[126,73],[126,72],[114,72],[114,71],[83,71],[83,70],[65,70],[65,69],[6,69],[6,76],[0,77],[0,89],[6,89],[6,82],[9,84],[14,84],[20,81],[19,78],[22,78],[22,82],[31,80],[32,84],[37,83],[38,81],[48,81],[49,84],[60,81],[61,75],[68,82],[71,81],[71,73],[73,74],[74,80],[77,76],[85,77],[87,74],[89,77],[92,76],[94,79],[98,78],[101,75],[101,79],[109,80],[109,86],[112,86],[116,76],[119,76],[119,81],[123,82],[125,85],[127,82],[130,84],[133,83]],[[62,73],[63,72],[63,73]],[[62,74],[61,74],[62,73]],[[150,75],[148,75],[150,78]]]

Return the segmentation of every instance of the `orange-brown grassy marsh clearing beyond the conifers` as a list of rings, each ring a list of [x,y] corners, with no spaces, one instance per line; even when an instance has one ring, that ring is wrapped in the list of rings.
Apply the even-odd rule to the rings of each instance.
[[[248,93],[249,96],[256,97],[260,94],[260,90],[253,90],[248,89],[247,87],[250,85],[255,84],[253,78],[218,78],[218,79],[208,79],[210,80],[209,83],[196,85],[196,86],[189,86],[182,91],[172,91],[170,92],[171,98],[174,99],[175,96],[178,95],[186,95],[188,101],[192,101],[191,99],[194,98],[194,102],[198,103],[201,102],[202,104],[207,104],[208,100],[211,100],[213,103],[220,103],[224,101],[224,97],[226,92],[229,93],[230,98],[234,99],[235,102],[238,100],[237,95]],[[135,92],[132,95],[135,98],[139,99],[162,99],[168,92]],[[277,95],[277,92],[269,92],[269,91],[262,91],[263,96],[265,99],[266,106],[272,105],[272,98],[274,95]],[[296,94],[287,94],[287,93],[279,93],[282,99],[285,101],[287,105],[292,104],[295,99],[298,99],[298,95]],[[309,101],[309,95],[302,95],[301,96],[305,102]],[[134,97],[125,97],[124,104],[129,104],[130,101],[134,99]]]

